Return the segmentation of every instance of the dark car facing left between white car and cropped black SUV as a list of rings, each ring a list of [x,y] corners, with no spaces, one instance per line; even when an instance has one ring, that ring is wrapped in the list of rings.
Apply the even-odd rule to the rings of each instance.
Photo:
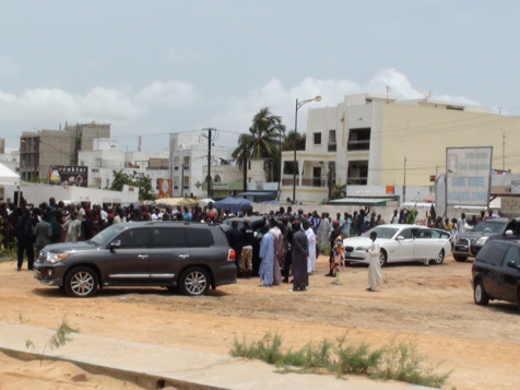
[[[475,227],[473,227],[470,232],[460,233],[457,236],[457,240],[453,245],[453,259],[456,261],[462,262],[468,260],[468,258],[470,257],[475,257],[489,238],[500,239],[506,236],[516,235],[517,220],[484,220],[480,222]],[[518,223],[520,223],[520,220]],[[507,234],[507,232],[511,233]]]

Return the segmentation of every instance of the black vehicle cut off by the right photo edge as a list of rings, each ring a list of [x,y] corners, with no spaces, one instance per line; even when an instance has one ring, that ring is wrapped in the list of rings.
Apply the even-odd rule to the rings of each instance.
[[[520,309],[520,240],[492,240],[476,255],[472,267],[475,304],[491,299],[516,303]]]

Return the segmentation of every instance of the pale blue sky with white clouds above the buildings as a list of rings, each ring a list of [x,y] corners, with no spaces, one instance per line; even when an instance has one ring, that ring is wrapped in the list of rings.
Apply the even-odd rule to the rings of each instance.
[[[0,0],[0,138],[111,125],[120,150],[217,129],[235,146],[262,107],[386,94],[520,115],[519,1]]]

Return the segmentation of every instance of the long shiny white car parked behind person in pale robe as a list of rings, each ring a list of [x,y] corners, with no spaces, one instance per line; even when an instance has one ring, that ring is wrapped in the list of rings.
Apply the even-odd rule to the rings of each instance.
[[[379,225],[359,237],[343,240],[347,262],[368,263],[370,232],[377,233],[377,243],[381,248],[381,265],[387,262],[417,260],[423,260],[425,264],[428,264],[429,260],[441,264],[445,257],[451,253],[450,234],[446,231],[418,225]]]

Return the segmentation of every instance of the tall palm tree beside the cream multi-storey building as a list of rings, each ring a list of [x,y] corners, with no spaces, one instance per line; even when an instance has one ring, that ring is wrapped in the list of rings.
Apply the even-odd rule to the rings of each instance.
[[[238,138],[238,147],[232,156],[238,161],[239,166],[247,158],[270,158],[273,164],[272,170],[279,173],[280,145],[285,138],[284,134],[285,126],[282,123],[282,117],[272,115],[269,107],[263,107],[252,118],[249,133],[240,134]]]

